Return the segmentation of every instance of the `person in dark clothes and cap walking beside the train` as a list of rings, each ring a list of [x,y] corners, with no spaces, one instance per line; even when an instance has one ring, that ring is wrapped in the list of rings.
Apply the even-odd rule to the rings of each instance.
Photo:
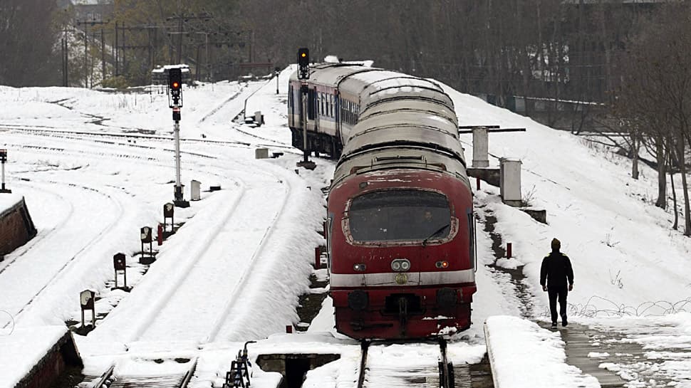
[[[556,327],[556,300],[559,300],[559,315],[561,325],[568,325],[566,320],[566,295],[573,290],[573,268],[568,256],[561,253],[561,242],[552,239],[552,252],[542,259],[540,269],[540,285],[549,295],[549,312],[552,316],[552,327]],[[568,280],[568,286],[567,286]]]

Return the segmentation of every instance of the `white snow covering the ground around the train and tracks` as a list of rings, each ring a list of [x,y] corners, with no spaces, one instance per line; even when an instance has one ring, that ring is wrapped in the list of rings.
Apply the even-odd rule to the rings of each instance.
[[[6,107],[0,112],[0,148],[9,150],[8,187],[13,195],[25,196],[38,229],[36,238],[0,263],[0,310],[5,312],[0,313],[0,348],[13,341],[11,327],[21,332],[79,320],[78,293],[90,288],[102,298],[97,310],[108,316],[88,337],[78,336],[85,374],[101,374],[110,365],[120,376],[184,372],[187,364],[151,360],[186,357],[197,361],[192,387],[219,386],[245,340],[269,337],[250,345],[251,355],[333,352],[341,359],[309,372],[305,386],[352,386],[359,347],[333,332],[328,298],[308,333],[276,335],[298,321],[295,306],[308,288],[313,247],[323,243],[316,234],[323,217],[320,189],[333,174],[333,163],[323,159],[315,159],[313,172],[295,171],[300,154],[290,147],[286,127],[289,73],[281,73],[279,95],[275,80],[185,88],[183,181],[197,179],[203,190],[212,184],[222,190],[204,191],[189,209],[176,209],[175,221],[185,225],[160,247],[145,276],[135,271],[139,228],[162,221],[162,204],[172,199],[175,177],[165,94],[0,87]],[[231,122],[255,91],[247,110],[261,110],[266,125]],[[504,315],[509,317],[489,322],[514,340],[499,342],[497,357],[509,355],[515,361],[516,349],[534,347],[521,353],[521,360],[540,365],[549,357],[554,365],[545,370],[558,377],[545,381],[597,386],[563,365],[558,335],[509,319],[544,319],[547,298],[539,287],[539,266],[556,237],[575,272],[571,320],[618,330],[650,347],[650,360],[670,357],[662,367],[652,362],[603,367],[618,370],[632,387],[652,386],[643,372],[655,368],[672,376],[677,387],[689,387],[691,362],[681,351],[691,342],[688,315],[666,314],[689,310],[691,268],[685,264],[691,239],[671,231],[672,214],[653,205],[655,172],[642,167],[641,179],[634,181],[628,161],[608,150],[472,96],[447,92],[460,125],[526,127],[526,132],[490,135],[490,164],[497,167],[499,157],[520,158],[524,197],[546,209],[548,221],[540,224],[505,206],[496,187],[483,183],[475,193],[481,221],[496,217],[495,232],[503,244],[513,245],[513,258],[497,264],[523,266],[530,308],[504,274],[480,266],[474,325],[450,344],[454,360],[482,357],[483,323]],[[471,137],[462,135],[462,141],[472,160]],[[257,147],[284,155],[256,160]],[[494,262],[494,252],[482,229],[479,224],[478,253],[487,265]],[[118,252],[128,257],[131,293],[110,290],[111,258]],[[636,327],[650,328],[650,335]],[[23,343],[46,346],[38,337]],[[655,350],[655,343],[665,345]],[[415,348],[384,351],[402,359],[419,357]],[[0,387],[13,386],[4,373],[13,368],[11,360],[0,357]],[[275,386],[275,373],[255,368],[255,375],[254,387]],[[507,386],[530,383],[509,379]]]

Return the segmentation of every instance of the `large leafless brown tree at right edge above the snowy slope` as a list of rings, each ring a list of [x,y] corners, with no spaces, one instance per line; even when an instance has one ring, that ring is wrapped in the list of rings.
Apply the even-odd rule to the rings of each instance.
[[[658,156],[657,206],[664,208],[667,203],[668,155],[679,167],[686,236],[691,236],[685,159],[685,145],[691,145],[691,53],[687,50],[691,45],[691,31],[687,28],[690,17],[688,4],[670,4],[645,24],[631,44],[617,102],[619,114],[635,122],[643,129],[643,135],[654,140]]]

